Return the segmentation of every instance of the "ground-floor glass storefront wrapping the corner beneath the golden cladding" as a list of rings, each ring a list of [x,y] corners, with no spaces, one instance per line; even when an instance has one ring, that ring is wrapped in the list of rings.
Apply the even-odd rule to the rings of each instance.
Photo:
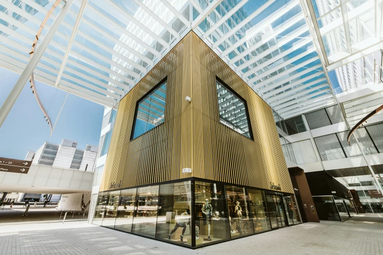
[[[198,247],[301,220],[292,194],[187,180],[100,192],[92,223]]]

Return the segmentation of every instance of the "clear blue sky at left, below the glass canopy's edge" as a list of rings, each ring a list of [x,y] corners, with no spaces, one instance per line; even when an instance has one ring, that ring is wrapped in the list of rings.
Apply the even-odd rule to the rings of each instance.
[[[0,105],[19,76],[0,67]],[[36,86],[54,124],[67,92],[39,81]],[[104,106],[69,94],[52,137],[49,137],[49,125],[28,83],[0,127],[0,157],[24,159],[28,150],[39,149],[45,141],[59,144],[63,138],[77,141],[80,149],[85,149],[87,144],[98,145],[103,113]]]

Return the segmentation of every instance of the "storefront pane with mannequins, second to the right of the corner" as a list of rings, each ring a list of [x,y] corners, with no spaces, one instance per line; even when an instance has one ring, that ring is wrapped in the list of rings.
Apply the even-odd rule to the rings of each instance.
[[[246,189],[226,186],[226,198],[231,238],[254,234]]]

